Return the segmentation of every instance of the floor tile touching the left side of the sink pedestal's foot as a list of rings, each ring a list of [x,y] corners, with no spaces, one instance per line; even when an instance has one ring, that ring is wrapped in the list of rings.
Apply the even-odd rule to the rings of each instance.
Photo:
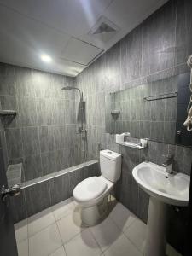
[[[125,236],[127,236],[141,252],[144,252],[147,225],[141,220],[137,219],[133,222],[133,224],[131,224],[130,227],[124,230],[124,232]]]

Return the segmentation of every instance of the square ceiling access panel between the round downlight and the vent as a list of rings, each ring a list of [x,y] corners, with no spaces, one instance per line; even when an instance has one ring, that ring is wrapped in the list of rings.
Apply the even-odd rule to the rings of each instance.
[[[79,39],[70,38],[67,46],[63,50],[61,57],[66,60],[74,61],[82,65],[88,65],[90,61],[102,53],[102,49],[87,44]]]

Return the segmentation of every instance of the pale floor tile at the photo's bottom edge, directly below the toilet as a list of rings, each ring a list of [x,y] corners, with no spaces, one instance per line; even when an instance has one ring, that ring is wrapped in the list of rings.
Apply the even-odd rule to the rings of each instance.
[[[102,250],[98,247],[96,240],[88,229],[68,241],[65,248],[67,256],[96,256],[102,254]]]

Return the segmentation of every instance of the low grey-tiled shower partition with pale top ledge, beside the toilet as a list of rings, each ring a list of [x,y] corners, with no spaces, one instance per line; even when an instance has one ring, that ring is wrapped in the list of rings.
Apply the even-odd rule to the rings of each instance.
[[[98,171],[98,162],[92,160],[23,183],[20,195],[11,198],[14,222],[19,222],[71,197],[78,183],[86,177],[97,176]]]

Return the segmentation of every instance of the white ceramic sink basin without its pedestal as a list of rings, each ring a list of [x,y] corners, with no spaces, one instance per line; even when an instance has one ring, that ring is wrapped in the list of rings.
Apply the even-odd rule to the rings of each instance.
[[[167,204],[187,206],[190,177],[183,173],[167,174],[166,168],[151,162],[136,166],[132,175],[149,195]]]

